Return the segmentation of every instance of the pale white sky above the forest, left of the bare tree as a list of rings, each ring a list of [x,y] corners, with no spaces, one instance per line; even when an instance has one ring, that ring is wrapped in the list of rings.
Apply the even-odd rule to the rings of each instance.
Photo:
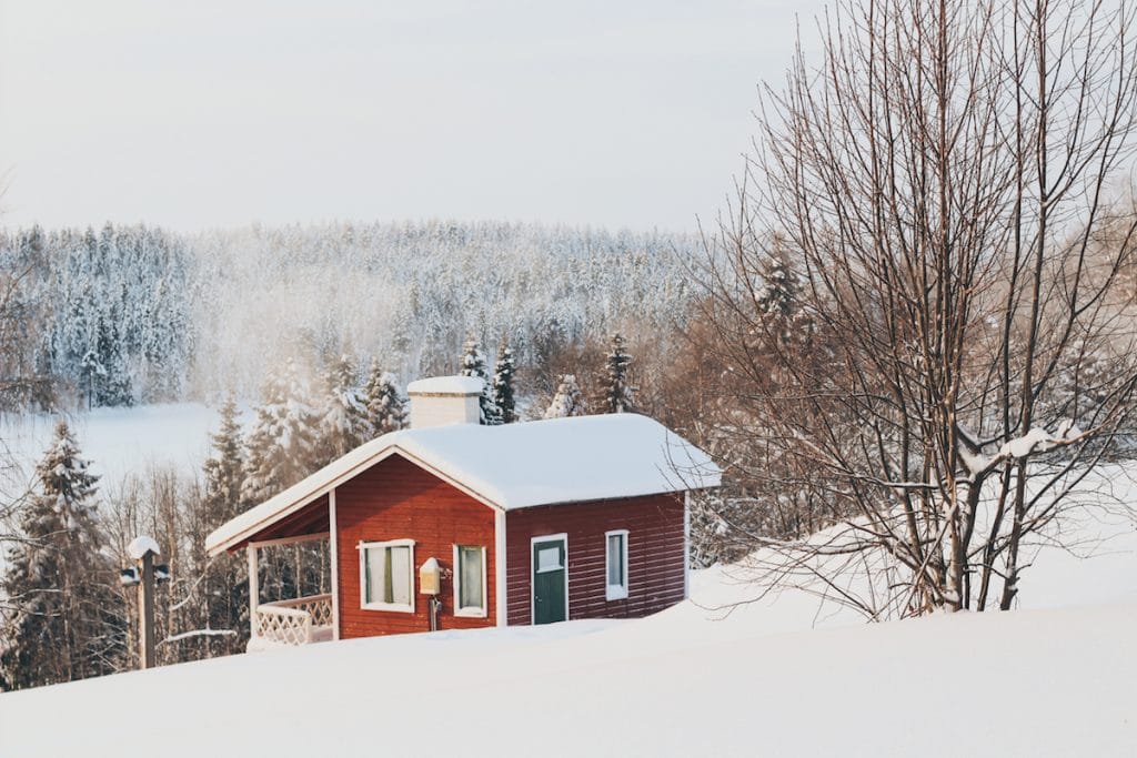
[[[2,220],[691,230],[820,0],[0,0]]]

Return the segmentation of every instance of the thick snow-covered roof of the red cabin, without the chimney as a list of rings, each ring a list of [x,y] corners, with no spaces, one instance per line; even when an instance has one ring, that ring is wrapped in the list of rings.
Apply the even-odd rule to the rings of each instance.
[[[647,416],[402,430],[367,442],[206,538],[216,555],[390,455],[501,510],[719,486],[711,457]]]

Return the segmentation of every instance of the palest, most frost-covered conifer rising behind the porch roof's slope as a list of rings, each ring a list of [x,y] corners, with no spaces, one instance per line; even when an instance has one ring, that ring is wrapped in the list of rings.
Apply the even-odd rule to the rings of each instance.
[[[291,359],[262,388],[262,405],[244,445],[244,507],[268,500],[316,468],[317,417],[307,398]]]

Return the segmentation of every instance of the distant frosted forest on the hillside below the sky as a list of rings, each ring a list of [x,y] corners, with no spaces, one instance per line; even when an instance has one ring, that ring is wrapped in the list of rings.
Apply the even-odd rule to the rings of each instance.
[[[5,232],[6,313],[19,317],[0,327],[2,403],[251,397],[285,358],[342,353],[407,380],[455,372],[468,336],[537,364],[615,331],[665,332],[686,311],[696,249],[504,223]]]

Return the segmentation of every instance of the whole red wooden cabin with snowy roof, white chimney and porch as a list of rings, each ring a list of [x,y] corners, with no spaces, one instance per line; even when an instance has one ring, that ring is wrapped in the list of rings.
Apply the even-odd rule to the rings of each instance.
[[[412,428],[208,536],[210,555],[248,552],[250,648],[636,617],[687,595],[686,495],[720,480],[706,453],[632,414],[481,426],[476,378],[408,392]],[[313,540],[331,591],[262,602],[258,550]]]

